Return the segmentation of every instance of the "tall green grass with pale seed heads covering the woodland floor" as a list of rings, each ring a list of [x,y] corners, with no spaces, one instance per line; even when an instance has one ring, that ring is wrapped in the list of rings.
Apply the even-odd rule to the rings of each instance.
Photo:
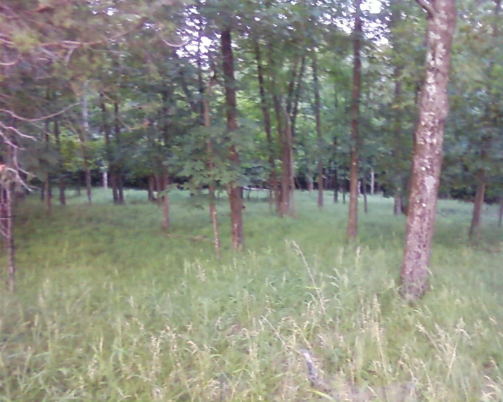
[[[347,205],[327,195],[319,211],[316,197],[297,195],[297,219],[246,202],[238,255],[222,198],[222,261],[204,200],[183,192],[170,235],[139,191],[122,207],[103,190],[92,206],[70,197],[51,217],[27,200],[18,290],[0,290],[0,401],[503,401],[496,207],[473,247],[472,206],[440,202],[432,289],[409,306],[392,201],[370,198],[355,248]]]

